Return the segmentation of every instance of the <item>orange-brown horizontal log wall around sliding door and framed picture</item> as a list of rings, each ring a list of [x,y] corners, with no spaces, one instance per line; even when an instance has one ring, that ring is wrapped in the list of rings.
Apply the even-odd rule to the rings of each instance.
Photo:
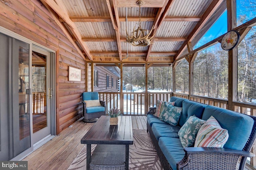
[[[82,117],[81,93],[85,91],[85,61],[40,0],[0,1],[0,25],[59,54],[57,133]],[[82,70],[81,82],[68,81],[68,66]]]

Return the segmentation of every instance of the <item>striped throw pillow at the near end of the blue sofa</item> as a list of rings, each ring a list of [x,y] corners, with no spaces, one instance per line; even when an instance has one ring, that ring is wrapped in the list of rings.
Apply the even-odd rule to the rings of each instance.
[[[228,141],[228,130],[222,129],[218,121],[211,116],[199,129],[194,147],[223,148]]]

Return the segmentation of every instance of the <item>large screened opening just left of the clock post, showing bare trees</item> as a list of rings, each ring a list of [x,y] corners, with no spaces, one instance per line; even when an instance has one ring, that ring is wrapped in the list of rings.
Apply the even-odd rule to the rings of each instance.
[[[228,98],[228,52],[220,43],[198,53],[194,61],[193,94]]]

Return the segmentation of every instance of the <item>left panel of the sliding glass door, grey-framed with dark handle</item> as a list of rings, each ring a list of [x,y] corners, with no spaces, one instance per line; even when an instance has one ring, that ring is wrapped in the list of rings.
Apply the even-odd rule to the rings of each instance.
[[[31,147],[29,44],[0,33],[0,160]]]

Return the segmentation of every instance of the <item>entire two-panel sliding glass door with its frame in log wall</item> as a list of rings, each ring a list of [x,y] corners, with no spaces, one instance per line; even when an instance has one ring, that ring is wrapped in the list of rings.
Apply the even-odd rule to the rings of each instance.
[[[52,139],[54,53],[0,33],[0,160],[20,160]]]

